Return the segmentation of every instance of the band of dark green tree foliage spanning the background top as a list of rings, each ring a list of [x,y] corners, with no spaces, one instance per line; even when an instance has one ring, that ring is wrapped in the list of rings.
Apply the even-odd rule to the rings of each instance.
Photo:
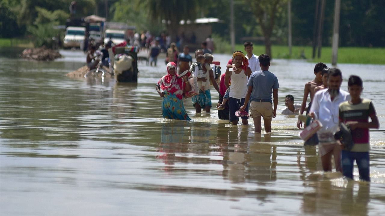
[[[72,0],[0,0],[0,37],[18,37],[39,24],[65,24]],[[234,0],[236,43],[244,37],[266,36],[270,43],[285,44],[287,37],[287,0]],[[293,45],[311,45],[315,2],[292,0]],[[334,0],[327,0],[323,24],[323,45],[331,45]],[[175,37],[180,20],[216,17],[211,24],[217,37],[229,40],[229,0],[109,0],[109,18],[135,25],[137,30],[157,34],[166,29]],[[98,9],[96,9],[98,7]],[[341,1],[340,45],[385,47],[385,1]],[[104,0],[77,0],[77,17],[104,15]],[[161,23],[167,20],[170,24]],[[272,25],[272,22],[274,25]],[[40,27],[42,28],[42,27]],[[261,40],[254,40],[261,43]],[[269,43],[269,41],[267,41]]]

